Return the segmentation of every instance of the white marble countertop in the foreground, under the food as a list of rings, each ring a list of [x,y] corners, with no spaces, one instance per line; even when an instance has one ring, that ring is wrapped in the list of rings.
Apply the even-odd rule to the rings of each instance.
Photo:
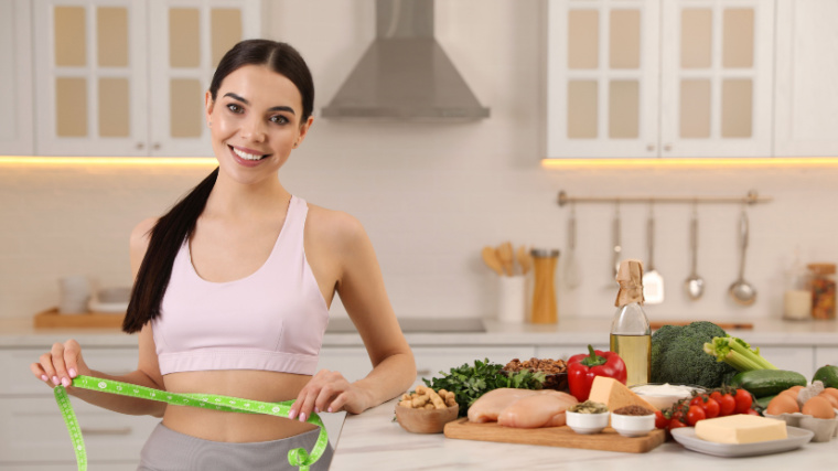
[[[750,458],[718,458],[667,441],[647,453],[622,453],[533,445],[455,440],[442,433],[405,431],[393,421],[396,399],[361,415],[347,415],[337,440],[331,471],[354,470],[599,470],[678,471],[831,469],[838,439],[806,443],[784,453]]]

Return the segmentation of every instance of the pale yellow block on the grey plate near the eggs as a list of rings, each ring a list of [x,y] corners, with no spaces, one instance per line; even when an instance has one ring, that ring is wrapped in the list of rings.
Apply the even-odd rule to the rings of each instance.
[[[739,414],[696,422],[696,437],[716,443],[755,443],[787,438],[785,421]]]

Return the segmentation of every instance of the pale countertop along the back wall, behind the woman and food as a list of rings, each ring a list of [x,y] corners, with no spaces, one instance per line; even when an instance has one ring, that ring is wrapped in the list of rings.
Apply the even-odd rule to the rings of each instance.
[[[344,321],[345,322],[345,321]],[[444,323],[444,319],[438,322]],[[838,321],[753,320],[753,330],[730,330],[755,345],[838,346]],[[506,324],[485,320],[485,332],[407,332],[410,345],[587,345],[602,341],[610,319],[560,319],[558,324]],[[31,318],[0,319],[0,347],[43,346],[76,339],[86,347],[136,346],[117,329],[35,329]],[[324,346],[361,346],[357,332],[326,332]]]

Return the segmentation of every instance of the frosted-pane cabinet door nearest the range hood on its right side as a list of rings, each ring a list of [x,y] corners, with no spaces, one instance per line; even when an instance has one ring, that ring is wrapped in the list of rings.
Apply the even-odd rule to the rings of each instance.
[[[658,154],[658,0],[550,0],[547,157]]]

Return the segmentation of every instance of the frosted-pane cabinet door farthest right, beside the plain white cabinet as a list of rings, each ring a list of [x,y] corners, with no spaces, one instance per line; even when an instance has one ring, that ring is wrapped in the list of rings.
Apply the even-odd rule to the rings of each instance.
[[[771,156],[774,2],[662,6],[660,157]]]

